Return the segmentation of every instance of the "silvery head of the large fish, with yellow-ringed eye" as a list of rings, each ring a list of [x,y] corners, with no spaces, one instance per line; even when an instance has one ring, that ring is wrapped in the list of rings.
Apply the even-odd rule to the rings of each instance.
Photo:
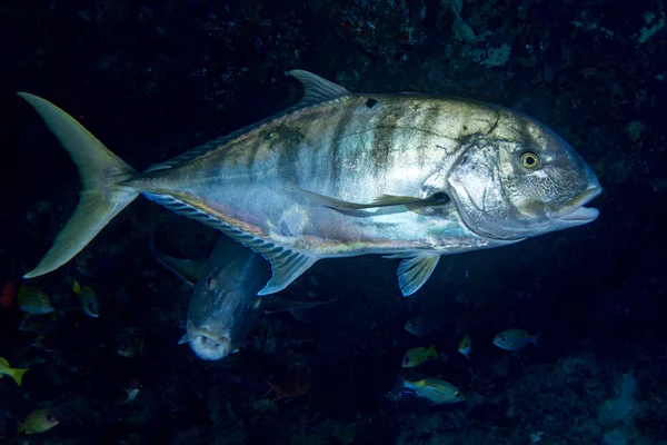
[[[584,207],[603,188],[573,147],[542,123],[507,111],[491,134],[471,137],[448,176],[464,224],[498,240],[520,240],[588,224]]]

